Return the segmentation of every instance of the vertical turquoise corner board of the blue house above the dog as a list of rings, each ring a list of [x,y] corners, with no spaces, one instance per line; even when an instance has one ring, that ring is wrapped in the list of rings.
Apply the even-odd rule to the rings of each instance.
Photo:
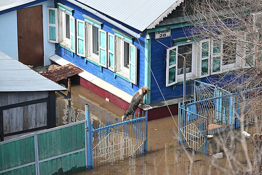
[[[145,77],[144,77],[144,84],[148,87],[149,90],[151,90],[151,33],[148,33],[150,39],[147,40],[145,37]],[[146,33],[145,33],[146,36]],[[149,64],[149,65],[148,65]],[[145,103],[150,104],[151,103],[151,93],[145,95]]]

